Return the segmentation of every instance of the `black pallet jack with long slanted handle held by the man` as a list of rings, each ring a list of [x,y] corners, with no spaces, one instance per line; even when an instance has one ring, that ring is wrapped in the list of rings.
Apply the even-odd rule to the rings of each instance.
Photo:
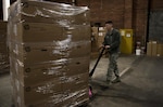
[[[93,68],[92,68],[91,71],[89,72],[89,78],[90,78],[90,79],[91,79],[91,77],[92,77],[92,75],[93,75],[93,72],[95,72],[95,70],[96,70],[96,68],[97,68],[97,66],[98,66],[98,64],[99,64],[99,62],[100,62],[100,59],[101,59],[103,53],[104,53],[104,50],[105,50],[105,48],[102,46],[102,51],[100,52],[100,54],[99,54],[99,56],[98,56],[98,59],[97,59],[97,62],[96,62]],[[91,85],[89,85],[89,97],[92,97],[92,95],[93,95],[93,94],[92,94],[92,88],[91,88]]]

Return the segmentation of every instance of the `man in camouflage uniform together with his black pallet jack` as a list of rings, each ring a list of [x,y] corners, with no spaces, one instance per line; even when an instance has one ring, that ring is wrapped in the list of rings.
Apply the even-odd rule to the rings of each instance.
[[[100,58],[102,57],[104,50],[105,52],[108,52],[109,54],[109,69],[108,69],[108,73],[106,73],[106,81],[103,84],[106,84],[108,86],[111,85],[111,83],[117,83],[121,82],[120,79],[120,73],[118,73],[118,68],[117,68],[117,58],[118,58],[118,53],[120,53],[120,43],[121,43],[121,35],[118,32],[117,29],[113,28],[113,22],[109,21],[105,22],[105,28],[108,30],[105,37],[104,37],[104,41],[103,41],[103,45],[102,51],[99,54],[99,57],[96,62],[96,65],[93,66],[92,70],[89,72],[89,78],[92,77],[95,69],[100,61]],[[115,75],[115,79],[112,80],[112,76],[113,73]],[[92,96],[92,90],[91,86],[89,89],[89,96]]]

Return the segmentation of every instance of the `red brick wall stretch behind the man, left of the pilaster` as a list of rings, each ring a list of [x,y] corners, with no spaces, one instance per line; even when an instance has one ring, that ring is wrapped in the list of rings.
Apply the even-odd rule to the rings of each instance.
[[[112,19],[116,28],[124,27],[125,0],[77,0],[77,5],[90,8],[90,21],[101,23]],[[118,6],[117,6],[118,5]]]

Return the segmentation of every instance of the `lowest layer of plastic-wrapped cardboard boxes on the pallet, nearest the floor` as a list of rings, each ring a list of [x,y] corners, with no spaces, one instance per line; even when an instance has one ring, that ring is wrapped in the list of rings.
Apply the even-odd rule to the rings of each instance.
[[[89,101],[88,88],[74,91],[73,93],[65,92],[54,94],[53,97],[48,97],[35,103],[24,104],[23,102],[21,102],[22,104],[20,105],[20,107],[75,107],[87,101]]]

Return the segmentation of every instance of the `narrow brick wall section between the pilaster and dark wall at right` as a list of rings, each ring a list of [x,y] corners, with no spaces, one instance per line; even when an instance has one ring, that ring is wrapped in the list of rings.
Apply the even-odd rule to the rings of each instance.
[[[135,40],[146,44],[147,38],[147,21],[148,21],[148,1],[149,0],[133,0],[134,1],[134,21],[133,28],[135,30]]]

